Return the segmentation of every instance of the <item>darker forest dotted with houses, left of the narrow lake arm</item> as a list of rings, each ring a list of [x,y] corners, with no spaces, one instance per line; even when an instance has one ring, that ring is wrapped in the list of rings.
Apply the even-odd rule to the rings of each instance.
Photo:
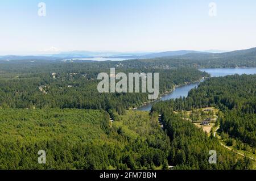
[[[122,113],[129,107],[148,102],[146,93],[108,93],[97,91],[97,75],[110,69],[97,69],[87,64],[54,64],[9,71],[0,74],[0,107],[5,108],[79,108],[115,109]],[[10,65],[9,65],[10,66]],[[8,72],[8,73],[7,73]],[[10,73],[11,72],[11,73]],[[197,69],[116,69],[116,73],[159,73],[159,92],[170,91],[175,85],[198,81],[209,74]]]

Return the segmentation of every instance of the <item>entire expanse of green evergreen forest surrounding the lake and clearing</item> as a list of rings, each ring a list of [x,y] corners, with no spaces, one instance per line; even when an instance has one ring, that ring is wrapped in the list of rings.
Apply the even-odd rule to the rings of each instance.
[[[251,169],[250,159],[174,111],[217,107],[222,134],[255,148],[255,75],[208,79],[193,66],[146,61],[1,63],[0,169]],[[207,80],[188,98],[156,103],[150,113],[129,111],[148,94],[100,94],[97,75],[110,68],[159,73],[161,94]],[[45,165],[37,162],[39,150],[46,150]],[[209,150],[217,151],[217,164],[208,162]]]

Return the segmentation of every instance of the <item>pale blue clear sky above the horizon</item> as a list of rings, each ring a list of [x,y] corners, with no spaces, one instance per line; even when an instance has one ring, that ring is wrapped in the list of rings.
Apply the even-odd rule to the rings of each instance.
[[[255,0],[1,0],[0,24],[1,55],[256,47]]]

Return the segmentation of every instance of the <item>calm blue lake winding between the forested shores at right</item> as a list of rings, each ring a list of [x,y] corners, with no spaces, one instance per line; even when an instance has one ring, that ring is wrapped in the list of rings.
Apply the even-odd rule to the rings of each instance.
[[[234,74],[256,74],[256,68],[236,68],[236,69],[199,69],[200,71],[205,71],[210,74],[211,77],[224,77],[226,75],[234,75]],[[188,96],[188,92],[197,87],[199,82],[192,83],[190,85],[177,87],[170,94],[162,96],[160,100],[169,100],[180,98],[180,96]],[[159,102],[156,100],[154,103]],[[146,106],[142,106],[138,108],[139,111],[150,111],[153,103],[147,104]]]

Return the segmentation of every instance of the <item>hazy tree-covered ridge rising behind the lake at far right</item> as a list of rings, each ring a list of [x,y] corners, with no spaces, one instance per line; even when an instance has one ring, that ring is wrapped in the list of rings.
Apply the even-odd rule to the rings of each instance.
[[[256,67],[256,48],[226,53],[187,53],[176,57],[159,57],[141,60],[127,60],[123,66],[154,68],[239,68]]]

